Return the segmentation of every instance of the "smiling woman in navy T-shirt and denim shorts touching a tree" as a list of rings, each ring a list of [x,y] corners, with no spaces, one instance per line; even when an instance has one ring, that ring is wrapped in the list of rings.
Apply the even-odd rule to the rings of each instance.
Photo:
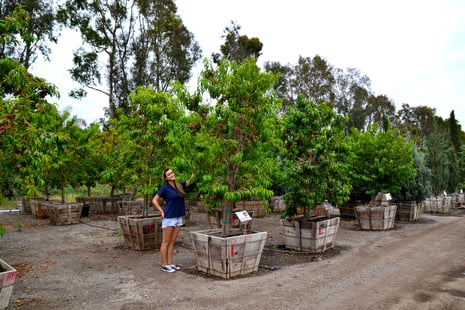
[[[160,247],[161,270],[165,272],[175,272],[180,270],[179,266],[172,263],[174,243],[178,237],[182,226],[182,217],[186,214],[184,202],[184,190],[192,184],[195,174],[186,182],[176,182],[176,175],[171,169],[163,171],[165,184],[158,190],[152,203],[161,213],[163,240]],[[160,198],[163,198],[165,205],[160,207]]]

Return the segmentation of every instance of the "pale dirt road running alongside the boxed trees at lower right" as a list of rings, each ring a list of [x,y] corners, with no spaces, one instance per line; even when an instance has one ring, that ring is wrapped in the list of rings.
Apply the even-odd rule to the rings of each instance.
[[[461,309],[456,307],[463,304],[460,289],[441,295],[436,291],[451,269],[464,267],[460,249],[465,249],[465,218],[405,225],[385,232],[341,231],[338,239],[343,245],[344,233],[352,239],[361,233],[373,235],[364,235],[366,243],[354,244],[327,261],[288,266],[263,277],[214,281],[214,296],[198,288],[196,301],[222,309],[423,310],[441,309],[444,304]],[[244,298],[252,292],[252,298]],[[177,306],[181,309],[183,303]]]

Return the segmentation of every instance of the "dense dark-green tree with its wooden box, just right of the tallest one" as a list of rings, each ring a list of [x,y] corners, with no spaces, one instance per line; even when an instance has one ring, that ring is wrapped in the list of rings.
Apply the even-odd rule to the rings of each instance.
[[[324,252],[334,247],[339,217],[315,214],[325,200],[342,204],[350,194],[344,119],[326,104],[298,97],[284,119],[285,207],[282,212],[286,247]],[[302,209],[303,214],[297,215]]]

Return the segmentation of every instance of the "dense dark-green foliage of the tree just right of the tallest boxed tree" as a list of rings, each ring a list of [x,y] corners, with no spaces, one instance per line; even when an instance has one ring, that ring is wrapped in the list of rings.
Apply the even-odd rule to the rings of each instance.
[[[326,104],[298,97],[283,120],[283,155],[286,208],[282,216],[294,216],[297,208],[315,208],[328,199],[342,204],[349,198],[351,153],[345,142],[343,119]]]

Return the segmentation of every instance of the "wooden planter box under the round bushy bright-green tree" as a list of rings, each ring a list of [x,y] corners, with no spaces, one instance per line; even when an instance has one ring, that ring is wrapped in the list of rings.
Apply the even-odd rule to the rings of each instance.
[[[396,205],[387,207],[355,207],[355,216],[361,229],[387,230],[394,227],[396,218]]]

